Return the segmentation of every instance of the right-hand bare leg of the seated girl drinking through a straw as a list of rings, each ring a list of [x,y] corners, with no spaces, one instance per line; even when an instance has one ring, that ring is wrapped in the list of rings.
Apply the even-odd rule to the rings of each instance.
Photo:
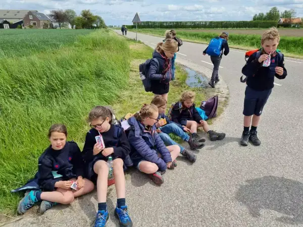
[[[123,172],[123,160],[121,158],[116,158],[113,161],[113,166],[117,199],[125,198],[125,176]]]

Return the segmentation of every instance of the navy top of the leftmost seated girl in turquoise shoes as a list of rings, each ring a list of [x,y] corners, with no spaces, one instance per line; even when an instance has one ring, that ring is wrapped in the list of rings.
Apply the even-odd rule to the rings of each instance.
[[[55,191],[55,183],[83,176],[83,158],[75,142],[61,150],[49,146],[38,160],[38,184],[43,191]]]

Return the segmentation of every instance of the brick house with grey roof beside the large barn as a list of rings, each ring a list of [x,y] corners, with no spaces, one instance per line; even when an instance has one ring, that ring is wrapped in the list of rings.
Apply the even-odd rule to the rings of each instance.
[[[32,25],[33,28],[49,28],[51,23],[51,19],[37,11],[28,11],[23,18],[24,27]]]

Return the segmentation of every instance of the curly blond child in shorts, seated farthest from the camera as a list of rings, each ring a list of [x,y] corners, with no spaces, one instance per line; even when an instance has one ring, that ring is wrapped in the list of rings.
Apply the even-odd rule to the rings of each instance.
[[[211,141],[223,140],[225,133],[217,133],[210,130],[209,125],[206,121],[203,121],[193,103],[195,99],[195,93],[192,91],[184,91],[181,94],[179,102],[176,102],[173,106],[171,117],[175,123],[187,127],[192,133],[194,140],[203,141],[205,139],[199,139],[197,135],[197,128],[203,127],[204,131],[209,135]]]

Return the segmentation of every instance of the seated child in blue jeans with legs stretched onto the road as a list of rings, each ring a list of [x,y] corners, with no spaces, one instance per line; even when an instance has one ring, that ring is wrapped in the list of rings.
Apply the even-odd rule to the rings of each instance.
[[[181,149],[181,154],[187,157],[189,161],[195,162],[196,155],[182,147],[180,144],[177,144],[174,140],[171,139],[168,134],[173,133],[179,136],[182,140],[188,142],[190,149],[192,150],[204,147],[204,143],[199,143],[196,140],[190,138],[186,133],[191,132],[190,129],[182,127],[181,125],[169,120],[169,118],[165,115],[167,102],[163,97],[161,97],[160,95],[154,97],[154,99],[151,101],[151,104],[154,104],[158,107],[159,122],[156,123],[156,127],[158,129],[158,132],[160,132],[159,136],[164,141],[164,143],[166,145],[178,145]]]

